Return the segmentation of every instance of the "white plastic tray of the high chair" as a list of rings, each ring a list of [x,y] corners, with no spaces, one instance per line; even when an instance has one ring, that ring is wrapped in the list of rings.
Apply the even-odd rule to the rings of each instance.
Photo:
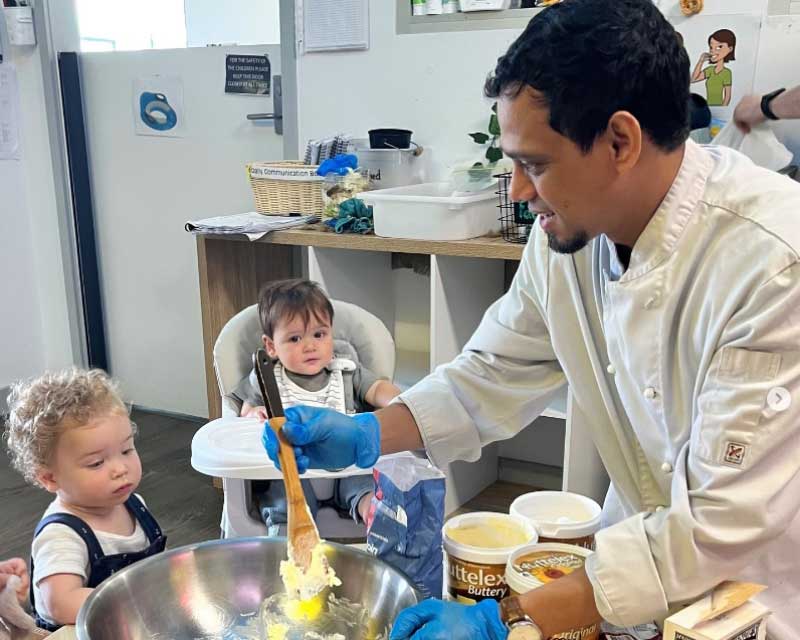
[[[218,418],[200,428],[192,438],[192,467],[217,478],[277,480],[281,472],[261,444],[264,423],[257,418]],[[382,458],[408,456],[396,453]],[[372,469],[347,467],[339,471],[310,469],[303,478],[341,478],[371,474]]]

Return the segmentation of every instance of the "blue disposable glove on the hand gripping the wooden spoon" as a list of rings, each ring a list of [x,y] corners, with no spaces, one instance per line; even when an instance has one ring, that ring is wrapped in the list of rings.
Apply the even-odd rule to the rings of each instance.
[[[343,469],[355,464],[367,469],[381,453],[381,426],[373,413],[348,416],[333,409],[290,407],[286,410],[283,434],[294,445],[297,470]],[[261,442],[280,469],[278,438],[264,425]]]

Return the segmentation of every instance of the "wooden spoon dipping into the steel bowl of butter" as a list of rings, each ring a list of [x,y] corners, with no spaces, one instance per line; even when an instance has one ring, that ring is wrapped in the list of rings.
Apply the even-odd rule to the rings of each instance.
[[[286,418],[270,418],[269,426],[278,437],[278,459],[283,471],[283,483],[286,485],[286,502],[288,507],[287,536],[289,538],[289,560],[304,571],[311,565],[311,552],[319,544],[319,531],[311,517],[303,487],[300,485],[300,474],[297,472],[297,460],[294,449],[283,435],[281,427]]]

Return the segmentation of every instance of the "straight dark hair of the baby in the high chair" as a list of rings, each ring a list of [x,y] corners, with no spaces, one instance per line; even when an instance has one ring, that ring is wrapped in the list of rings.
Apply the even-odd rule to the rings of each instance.
[[[312,315],[333,324],[333,305],[322,288],[311,280],[276,280],[264,285],[258,294],[258,317],[268,338],[272,338],[279,322],[300,316],[308,324]]]

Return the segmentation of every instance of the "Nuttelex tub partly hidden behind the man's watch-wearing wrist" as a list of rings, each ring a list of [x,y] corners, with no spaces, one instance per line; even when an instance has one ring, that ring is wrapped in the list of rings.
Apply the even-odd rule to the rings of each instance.
[[[510,595],[521,595],[582,569],[592,552],[571,544],[545,542],[515,549],[506,565]],[[598,640],[600,625],[593,624],[551,636],[549,640]]]

